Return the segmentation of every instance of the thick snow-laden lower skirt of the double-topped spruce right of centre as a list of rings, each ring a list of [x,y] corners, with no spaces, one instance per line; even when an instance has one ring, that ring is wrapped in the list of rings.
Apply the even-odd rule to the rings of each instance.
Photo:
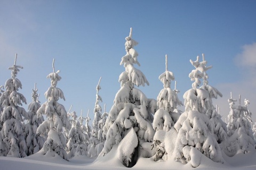
[[[177,160],[189,162],[190,159],[195,159],[193,158],[195,155],[190,152],[190,149],[186,149],[191,146],[214,162],[223,162],[220,146],[212,135],[214,124],[205,114],[197,111],[184,112],[174,128],[178,132],[174,149]]]

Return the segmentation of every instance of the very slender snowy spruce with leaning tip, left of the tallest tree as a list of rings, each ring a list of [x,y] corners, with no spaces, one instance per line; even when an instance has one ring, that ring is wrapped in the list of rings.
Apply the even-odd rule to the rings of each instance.
[[[101,77],[100,77],[101,80]],[[88,156],[95,157],[98,156],[103,149],[102,143],[100,143],[98,139],[98,131],[99,131],[99,121],[101,120],[101,106],[100,101],[102,102],[102,98],[99,95],[100,87],[100,80],[96,86],[96,101],[94,107],[94,120],[92,122],[92,132],[90,138],[90,145],[88,146]]]

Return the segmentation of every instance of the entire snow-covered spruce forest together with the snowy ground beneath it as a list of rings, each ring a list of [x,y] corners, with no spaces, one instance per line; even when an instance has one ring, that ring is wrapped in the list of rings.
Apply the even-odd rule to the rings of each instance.
[[[83,111],[77,114],[72,106],[67,110],[61,104],[65,102],[65,91],[57,86],[61,73],[55,70],[54,63],[58,61],[54,59],[53,71],[46,77],[51,83],[44,93],[45,102],[38,100],[35,83],[28,108],[22,107],[27,104],[25,96],[18,92],[22,89],[18,73],[23,67],[15,55],[14,64],[9,67],[11,78],[0,87],[0,162],[5,169],[8,162],[19,165],[41,160],[50,165],[51,159],[57,160],[56,169],[62,169],[58,163],[85,169],[189,169],[206,165],[256,168],[256,123],[251,117],[253,111],[247,108],[250,101],[242,101],[241,95],[237,99],[230,92],[230,112],[223,120],[220,108],[213,105],[213,100],[222,94],[211,86],[207,70],[214,67],[208,65],[204,54],[190,60],[191,89],[183,99],[178,97],[179,82],[175,81],[175,70],[168,68],[165,55],[165,71],[158,80],[163,89],[155,98],[147,98],[143,88],[138,88],[149,86],[149,82],[139,70],[138,42],[132,31],[131,28],[125,37],[120,63],[124,71],[119,75],[121,87],[113,106],[110,111],[106,106],[102,109],[100,78],[93,99],[93,120],[90,110],[83,117]],[[171,164],[173,167],[169,167]]]

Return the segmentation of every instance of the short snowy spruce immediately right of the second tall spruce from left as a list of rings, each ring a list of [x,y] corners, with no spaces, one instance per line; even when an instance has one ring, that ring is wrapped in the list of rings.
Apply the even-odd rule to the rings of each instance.
[[[68,134],[67,151],[69,158],[74,156],[86,155],[87,146],[84,143],[84,134],[81,130],[81,124],[76,119],[76,112],[71,112],[71,129]]]

